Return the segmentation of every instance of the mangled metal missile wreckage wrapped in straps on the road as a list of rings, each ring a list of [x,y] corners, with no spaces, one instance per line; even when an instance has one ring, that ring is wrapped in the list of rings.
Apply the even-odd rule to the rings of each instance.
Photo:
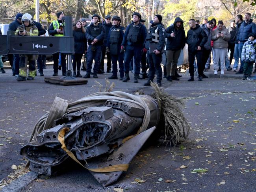
[[[114,183],[154,131],[173,144],[189,132],[182,101],[152,87],[151,96],[98,92],[72,103],[56,97],[20,154],[38,174],[51,175],[70,157],[102,186]]]

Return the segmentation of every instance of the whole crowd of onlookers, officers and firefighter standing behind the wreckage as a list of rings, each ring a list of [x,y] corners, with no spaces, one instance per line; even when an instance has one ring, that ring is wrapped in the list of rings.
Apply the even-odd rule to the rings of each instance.
[[[18,13],[15,21],[9,25],[9,30],[15,31],[15,35],[20,36],[48,36],[49,34],[62,37],[64,35],[62,18],[65,15],[63,12],[56,15],[58,19],[54,20],[46,31],[39,22],[33,20],[30,14]],[[85,19],[74,23],[75,54],[72,55],[74,77],[81,78],[80,70],[83,70],[86,71],[83,78],[91,78],[91,75],[93,78],[98,78],[98,74],[105,73],[104,58],[107,55],[106,72],[112,73],[109,79],[119,78],[122,82],[130,81],[129,72],[132,70],[134,83],[138,83],[139,79],[148,79],[145,86],[154,81],[155,75],[159,86],[162,78],[166,78],[167,81],[178,81],[181,77],[177,73],[178,58],[187,43],[190,74],[188,81],[195,80],[195,68],[198,72],[198,81],[208,78],[204,72],[210,69],[211,58],[213,58],[215,75],[218,71],[223,75],[225,70],[233,70],[236,74],[243,74],[243,79],[255,79],[251,75],[256,72],[256,66],[253,71],[256,58],[256,24],[252,22],[250,13],[245,13],[244,20],[242,15],[237,15],[228,27],[222,20],[217,22],[214,18],[211,20],[205,18],[200,25],[199,20],[192,18],[189,20],[190,29],[187,35],[184,22],[180,17],[175,18],[174,23],[165,29],[162,16],[155,15],[150,21],[151,26],[148,30],[145,20],[138,12],[132,14],[132,22],[126,29],[121,25],[121,18],[116,15],[113,17],[107,15],[103,23],[100,20],[100,16],[94,14],[90,24],[87,24]],[[230,58],[228,58],[229,50]],[[82,62],[81,68],[83,54],[85,61]],[[166,57],[164,70],[161,67],[163,54]],[[58,70],[62,70],[62,75],[66,76],[65,57],[66,55],[62,53],[53,55],[53,76],[58,76]],[[232,69],[233,58],[235,62]],[[13,55],[13,76],[17,77],[17,81],[35,78],[35,61],[37,61],[40,76],[44,76],[45,55]],[[2,73],[5,72],[1,62],[0,70]]]

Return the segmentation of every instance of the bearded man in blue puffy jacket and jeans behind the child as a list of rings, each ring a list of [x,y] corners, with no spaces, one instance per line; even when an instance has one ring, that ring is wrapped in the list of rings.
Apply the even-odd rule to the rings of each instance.
[[[238,49],[239,49],[239,58],[240,58],[240,68],[239,71],[236,72],[236,74],[242,74],[243,73],[243,61],[241,61],[241,54],[243,49],[243,44],[245,41],[248,40],[250,33],[256,33],[256,24],[252,22],[252,19],[250,18],[250,13],[245,13],[245,20],[242,22],[239,31],[237,33],[237,42],[238,42]]]

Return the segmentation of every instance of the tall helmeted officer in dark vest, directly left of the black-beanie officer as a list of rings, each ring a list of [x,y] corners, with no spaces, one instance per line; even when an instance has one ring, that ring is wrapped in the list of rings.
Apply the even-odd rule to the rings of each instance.
[[[132,23],[127,26],[122,41],[121,50],[125,50],[124,54],[124,71],[125,77],[123,82],[130,81],[130,61],[134,56],[134,83],[138,83],[140,72],[141,54],[144,48],[144,42],[147,36],[147,28],[140,22],[141,14],[134,12],[132,14]]]

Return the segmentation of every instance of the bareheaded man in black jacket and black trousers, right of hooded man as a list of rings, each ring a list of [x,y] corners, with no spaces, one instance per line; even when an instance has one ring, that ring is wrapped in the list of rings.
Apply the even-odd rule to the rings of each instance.
[[[188,60],[190,78],[187,81],[194,81],[194,61],[197,57],[198,81],[202,81],[204,66],[202,65],[202,50],[207,42],[207,35],[195,19],[189,20],[190,30],[187,31]]]

